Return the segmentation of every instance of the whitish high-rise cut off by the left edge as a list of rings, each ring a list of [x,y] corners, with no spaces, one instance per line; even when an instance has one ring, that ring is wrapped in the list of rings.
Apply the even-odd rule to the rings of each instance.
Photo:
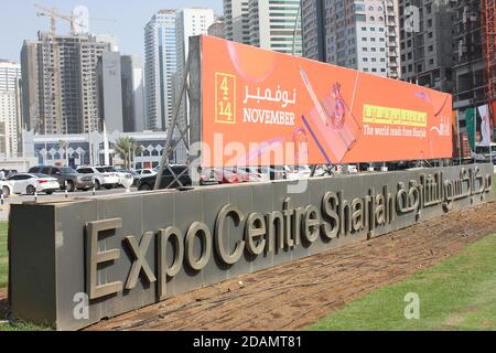
[[[0,60],[0,156],[19,157],[21,109],[21,65]]]

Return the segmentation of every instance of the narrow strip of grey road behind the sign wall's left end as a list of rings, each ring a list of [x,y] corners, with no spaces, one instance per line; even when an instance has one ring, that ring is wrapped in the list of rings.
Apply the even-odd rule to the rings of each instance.
[[[136,191],[136,188],[131,189],[131,192]],[[97,190],[95,191],[95,195],[110,195],[110,194],[121,194],[126,193],[126,189],[118,188],[118,189],[111,189],[111,190]],[[69,192],[67,193],[68,197],[80,197],[80,196],[91,196],[93,191],[77,191],[77,192]],[[64,200],[65,199],[65,192],[60,191],[55,192],[52,195],[46,195],[44,193],[40,193],[37,195],[39,202],[44,201],[57,201],[57,200]],[[34,196],[32,195],[11,195],[10,197],[7,197],[3,200],[3,205],[0,206],[0,222],[6,222],[9,220],[9,205],[15,204],[15,203],[23,203],[23,202],[32,202],[34,201]]]

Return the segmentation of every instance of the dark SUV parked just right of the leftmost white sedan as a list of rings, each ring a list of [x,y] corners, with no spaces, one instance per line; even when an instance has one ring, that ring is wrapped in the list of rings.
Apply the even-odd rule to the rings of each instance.
[[[31,168],[29,173],[42,173],[55,178],[58,181],[61,190],[65,190],[67,185],[68,192],[74,192],[77,190],[87,191],[93,188],[93,178],[78,173],[71,167],[48,167],[48,165],[37,165]]]

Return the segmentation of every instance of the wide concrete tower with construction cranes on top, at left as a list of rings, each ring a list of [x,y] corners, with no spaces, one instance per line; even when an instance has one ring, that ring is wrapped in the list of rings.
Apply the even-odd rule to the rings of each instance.
[[[23,124],[39,133],[100,128],[97,63],[112,44],[91,34],[39,33],[21,52]]]

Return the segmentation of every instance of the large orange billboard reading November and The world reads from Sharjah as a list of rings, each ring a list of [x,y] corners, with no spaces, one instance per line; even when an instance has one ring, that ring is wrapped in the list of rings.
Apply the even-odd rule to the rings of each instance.
[[[452,157],[452,97],[201,36],[205,167]]]

